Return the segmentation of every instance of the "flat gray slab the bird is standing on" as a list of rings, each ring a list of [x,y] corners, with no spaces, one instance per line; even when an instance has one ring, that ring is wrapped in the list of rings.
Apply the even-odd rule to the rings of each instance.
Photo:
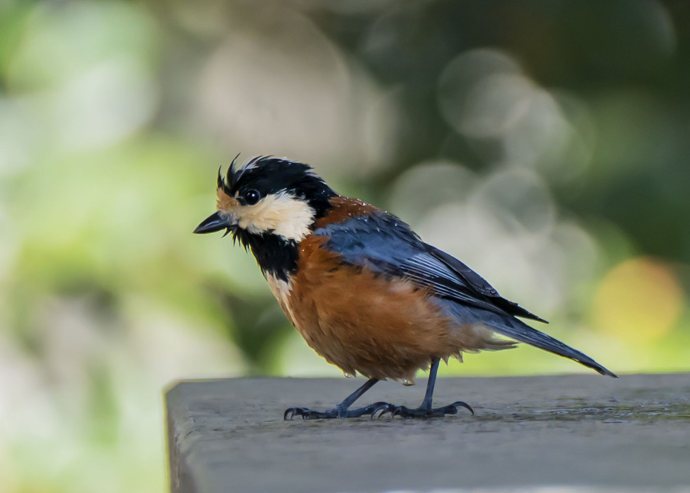
[[[462,399],[476,416],[282,419],[286,407],[331,407],[363,382],[175,385],[171,491],[690,492],[690,374],[440,378],[435,403]],[[424,385],[379,383],[361,403],[412,407],[423,394]]]

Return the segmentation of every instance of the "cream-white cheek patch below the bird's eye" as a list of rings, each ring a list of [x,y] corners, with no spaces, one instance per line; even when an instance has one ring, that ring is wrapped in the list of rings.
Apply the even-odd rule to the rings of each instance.
[[[227,211],[237,225],[249,233],[272,231],[286,240],[301,241],[314,221],[315,211],[307,202],[287,192],[272,193],[253,206],[237,206]]]

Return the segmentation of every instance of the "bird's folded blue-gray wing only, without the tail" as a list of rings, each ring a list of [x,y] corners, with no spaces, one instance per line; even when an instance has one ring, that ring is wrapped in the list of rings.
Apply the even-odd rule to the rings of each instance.
[[[509,316],[544,321],[493,289],[475,271],[429,244],[393,215],[377,211],[317,229],[328,236],[326,248],[344,262],[367,267],[384,276],[407,278],[446,300]]]

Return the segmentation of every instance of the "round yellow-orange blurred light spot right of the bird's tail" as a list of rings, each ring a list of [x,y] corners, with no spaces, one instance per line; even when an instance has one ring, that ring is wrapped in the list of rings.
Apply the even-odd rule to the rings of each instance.
[[[600,282],[593,320],[600,331],[646,342],[673,329],[682,306],[682,288],[665,264],[633,258],[611,269]]]

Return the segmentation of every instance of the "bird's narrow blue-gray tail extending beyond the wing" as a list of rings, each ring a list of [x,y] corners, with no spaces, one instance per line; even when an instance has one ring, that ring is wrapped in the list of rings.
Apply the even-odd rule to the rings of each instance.
[[[602,375],[609,375],[613,378],[618,378],[618,376],[613,374],[613,372],[602,367],[602,365],[597,363],[595,360],[593,360],[586,354],[583,354],[577,349],[573,349],[572,347],[563,344],[562,342],[560,342],[560,340],[554,339],[551,336],[547,336],[546,334],[538,331],[537,329],[533,329],[521,320],[517,320],[517,318],[506,317],[502,320],[503,323],[500,323],[497,320],[492,320],[492,322],[493,323],[489,323],[488,325],[491,327],[492,330],[498,332],[499,334],[508,336],[511,339],[519,340],[520,342],[526,342],[527,344],[532,345],[534,347],[538,347],[540,349],[545,349],[546,351],[549,351],[553,354],[565,356],[566,358],[575,360],[581,365],[589,367],[594,371],[598,371]]]

